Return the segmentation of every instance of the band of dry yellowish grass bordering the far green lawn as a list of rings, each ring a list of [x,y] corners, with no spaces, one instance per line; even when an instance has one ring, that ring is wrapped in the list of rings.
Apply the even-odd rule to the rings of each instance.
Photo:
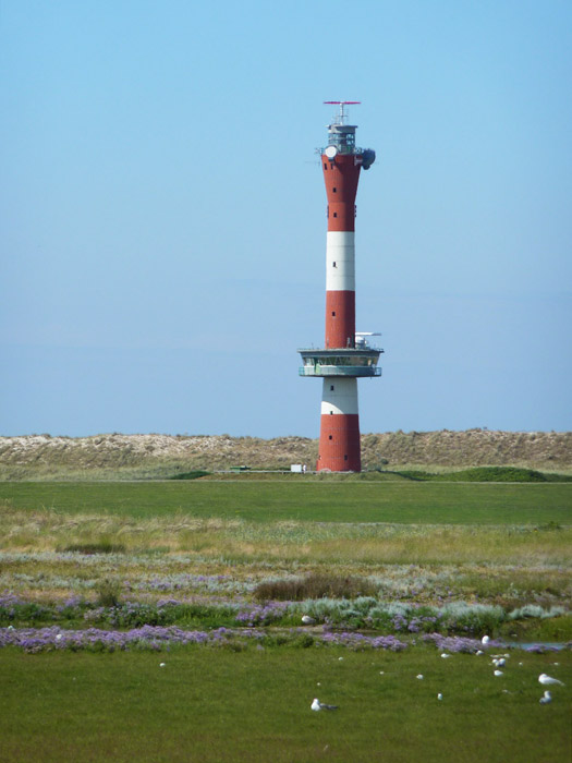
[[[64,514],[50,510],[0,513],[0,548],[64,550],[121,546],[125,553],[169,553],[234,560],[382,564],[568,565],[572,526],[405,525],[268,522]]]

